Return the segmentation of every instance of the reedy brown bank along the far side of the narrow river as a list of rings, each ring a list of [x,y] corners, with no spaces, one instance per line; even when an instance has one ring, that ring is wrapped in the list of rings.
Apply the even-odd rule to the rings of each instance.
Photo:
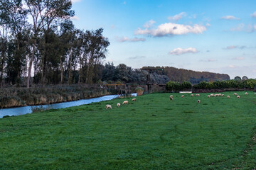
[[[47,105],[111,94],[117,94],[117,91],[95,85],[58,85],[31,87],[30,89],[3,88],[0,90],[0,108]]]

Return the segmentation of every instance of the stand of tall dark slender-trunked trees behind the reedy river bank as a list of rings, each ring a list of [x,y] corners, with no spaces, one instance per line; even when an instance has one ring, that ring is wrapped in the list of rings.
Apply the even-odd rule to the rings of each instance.
[[[0,84],[92,84],[110,42],[79,30],[70,0],[0,1]],[[33,75],[33,82],[31,82]]]

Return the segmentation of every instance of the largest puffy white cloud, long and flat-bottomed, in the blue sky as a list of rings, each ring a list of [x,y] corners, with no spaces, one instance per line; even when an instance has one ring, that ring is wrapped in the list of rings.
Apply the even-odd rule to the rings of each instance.
[[[135,35],[151,35],[154,37],[161,37],[166,35],[183,35],[187,33],[203,33],[206,31],[206,26],[195,24],[193,26],[182,25],[177,23],[163,23],[156,29],[141,29],[135,30]]]

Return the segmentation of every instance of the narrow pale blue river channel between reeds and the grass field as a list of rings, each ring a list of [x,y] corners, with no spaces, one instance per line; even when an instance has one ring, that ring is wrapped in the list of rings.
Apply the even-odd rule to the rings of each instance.
[[[99,102],[99,101],[109,101],[113,98],[117,98],[120,95],[107,95],[102,96],[98,98],[88,98],[88,99],[82,99],[79,101],[68,101],[63,103],[54,103],[54,104],[48,104],[48,105],[40,105],[36,107],[43,107],[43,108],[50,108],[50,109],[58,109],[58,108],[69,108],[72,106],[80,106],[84,104],[89,104],[92,102]],[[137,94],[132,94],[132,96],[137,96]],[[23,106],[18,108],[3,108],[0,110],[0,118],[3,118],[5,115],[24,115],[27,113],[32,113],[32,107],[35,106]]]

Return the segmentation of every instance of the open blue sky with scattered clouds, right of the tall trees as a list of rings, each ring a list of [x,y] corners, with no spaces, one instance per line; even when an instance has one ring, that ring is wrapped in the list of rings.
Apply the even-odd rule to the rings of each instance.
[[[75,28],[104,29],[104,62],[256,79],[255,0],[72,1]]]

